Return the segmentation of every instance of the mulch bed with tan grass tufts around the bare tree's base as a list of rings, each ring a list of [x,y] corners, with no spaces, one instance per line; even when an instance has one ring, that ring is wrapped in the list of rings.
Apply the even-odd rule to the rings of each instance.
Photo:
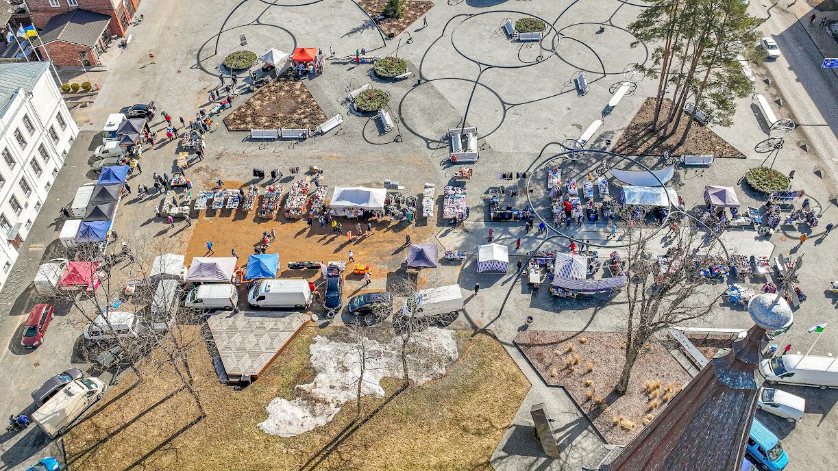
[[[613,387],[625,363],[624,339],[622,332],[525,330],[515,337],[515,345],[547,384],[565,388],[608,443],[625,445],[690,375],[669,351],[650,345],[634,363],[628,391],[618,395]],[[577,362],[568,366],[566,361]],[[647,384],[654,386],[653,392],[647,392]]]

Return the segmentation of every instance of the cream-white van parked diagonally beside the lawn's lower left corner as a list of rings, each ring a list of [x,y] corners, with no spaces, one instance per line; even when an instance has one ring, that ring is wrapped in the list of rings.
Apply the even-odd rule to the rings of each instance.
[[[105,395],[105,383],[97,378],[80,378],[67,383],[32,414],[32,420],[49,438],[65,433],[75,419]]]

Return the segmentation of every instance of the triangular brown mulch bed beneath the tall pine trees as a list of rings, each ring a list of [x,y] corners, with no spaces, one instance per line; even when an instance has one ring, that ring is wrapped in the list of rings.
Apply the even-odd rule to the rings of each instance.
[[[661,106],[660,115],[665,116],[672,105],[671,100],[665,100]],[[640,155],[662,155],[664,151],[672,154],[688,156],[716,156],[743,159],[742,152],[719,137],[710,128],[693,123],[689,136],[683,145],[679,146],[680,136],[684,134],[689,115],[681,117],[680,125],[675,133],[665,141],[660,141],[659,135],[653,135],[651,131],[652,118],[654,117],[654,98],[647,98],[637,114],[623,131],[612,151],[629,156]]]

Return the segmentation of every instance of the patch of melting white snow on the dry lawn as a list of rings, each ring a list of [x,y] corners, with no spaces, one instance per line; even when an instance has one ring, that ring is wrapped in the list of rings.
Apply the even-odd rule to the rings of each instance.
[[[361,394],[384,397],[381,378],[401,379],[401,337],[385,344],[365,340],[365,371]],[[413,347],[421,352],[408,356],[408,374],[422,384],[445,374],[446,367],[457,361],[457,340],[453,330],[432,327],[414,333]],[[293,437],[331,422],[340,407],[354,401],[361,373],[361,343],[344,343],[314,337],[311,361],[317,373],[308,384],[297,386],[292,401],[277,397],[267,405],[267,419],[259,424],[263,432]]]

